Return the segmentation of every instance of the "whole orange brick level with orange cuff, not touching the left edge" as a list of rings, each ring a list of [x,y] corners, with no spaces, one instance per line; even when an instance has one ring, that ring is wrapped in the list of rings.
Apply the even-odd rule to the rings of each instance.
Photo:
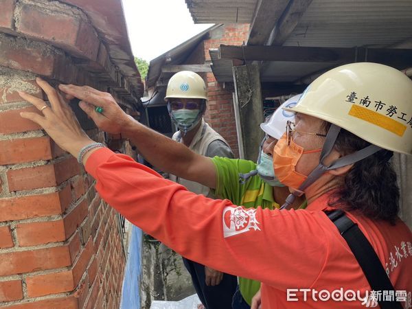
[[[10,191],[32,190],[58,185],[52,164],[9,170],[7,178]]]

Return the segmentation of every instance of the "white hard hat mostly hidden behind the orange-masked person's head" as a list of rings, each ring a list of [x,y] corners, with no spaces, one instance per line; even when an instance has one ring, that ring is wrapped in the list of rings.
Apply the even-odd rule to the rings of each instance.
[[[282,135],[284,135],[286,131],[286,122],[288,120],[290,122],[295,121],[295,113],[290,111],[285,111],[283,108],[292,108],[297,104],[299,101],[301,94],[295,95],[294,97],[290,98],[286,102],[284,102],[281,106],[277,108],[275,113],[271,115],[267,122],[260,124],[260,128],[271,137],[275,139],[280,139]]]

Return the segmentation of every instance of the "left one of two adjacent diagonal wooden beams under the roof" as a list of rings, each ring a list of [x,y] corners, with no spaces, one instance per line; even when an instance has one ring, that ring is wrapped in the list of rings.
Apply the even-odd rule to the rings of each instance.
[[[258,0],[247,45],[265,45],[289,0]]]

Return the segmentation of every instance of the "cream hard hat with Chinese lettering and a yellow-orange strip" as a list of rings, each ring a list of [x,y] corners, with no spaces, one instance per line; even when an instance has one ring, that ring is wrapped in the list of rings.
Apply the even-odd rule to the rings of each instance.
[[[412,81],[371,62],[336,67],[314,80],[288,111],[340,126],[387,150],[412,154]]]

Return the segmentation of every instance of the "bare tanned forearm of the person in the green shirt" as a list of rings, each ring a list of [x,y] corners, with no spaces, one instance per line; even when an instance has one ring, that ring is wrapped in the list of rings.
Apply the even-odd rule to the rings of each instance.
[[[150,164],[163,172],[187,178],[188,167],[196,154],[183,144],[157,133],[134,119],[124,126],[122,136],[129,139]]]

